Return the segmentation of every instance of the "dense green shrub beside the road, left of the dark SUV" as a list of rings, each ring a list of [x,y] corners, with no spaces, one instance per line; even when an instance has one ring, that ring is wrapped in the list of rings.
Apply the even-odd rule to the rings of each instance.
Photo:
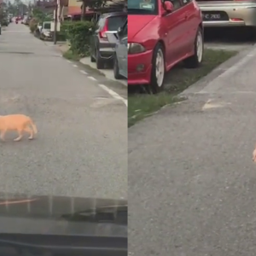
[[[89,55],[90,36],[95,29],[95,23],[90,21],[65,21],[61,25],[61,32],[65,32],[70,41],[70,49],[81,57]]]

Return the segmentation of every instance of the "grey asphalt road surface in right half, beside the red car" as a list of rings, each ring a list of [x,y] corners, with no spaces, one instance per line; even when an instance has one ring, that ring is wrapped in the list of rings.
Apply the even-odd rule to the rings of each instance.
[[[255,255],[256,48],[230,61],[129,129],[131,255]]]

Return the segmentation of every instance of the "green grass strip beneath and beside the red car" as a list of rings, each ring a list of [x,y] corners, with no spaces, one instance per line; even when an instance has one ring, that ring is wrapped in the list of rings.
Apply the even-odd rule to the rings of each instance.
[[[128,126],[156,112],[160,108],[183,100],[177,95],[199,79],[205,77],[215,67],[237,54],[237,51],[222,49],[205,49],[201,67],[195,69],[183,68],[177,65],[166,74],[166,91],[157,95],[131,93],[128,96]]]

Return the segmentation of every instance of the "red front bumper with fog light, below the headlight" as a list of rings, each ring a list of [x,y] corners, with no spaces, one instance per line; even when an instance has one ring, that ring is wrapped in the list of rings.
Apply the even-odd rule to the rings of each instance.
[[[128,84],[150,84],[152,50],[128,55]]]

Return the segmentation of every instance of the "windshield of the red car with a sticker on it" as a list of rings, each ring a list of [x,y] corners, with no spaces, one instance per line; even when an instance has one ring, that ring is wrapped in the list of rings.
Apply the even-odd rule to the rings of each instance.
[[[127,4],[128,15],[157,15],[157,0],[129,0]]]

